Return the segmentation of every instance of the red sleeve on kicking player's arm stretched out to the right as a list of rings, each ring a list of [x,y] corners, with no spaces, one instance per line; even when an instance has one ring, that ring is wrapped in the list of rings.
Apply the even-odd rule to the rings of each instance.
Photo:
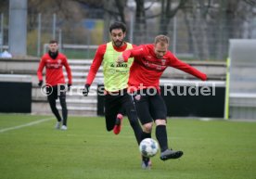
[[[188,65],[187,63],[181,61],[180,59],[176,58],[173,54],[170,55],[170,65],[171,67],[178,69],[178,70],[183,70],[195,77],[197,77],[198,79],[201,79],[202,81],[206,81],[207,80],[207,75],[199,70],[197,70],[194,67],[191,67],[190,65]]]

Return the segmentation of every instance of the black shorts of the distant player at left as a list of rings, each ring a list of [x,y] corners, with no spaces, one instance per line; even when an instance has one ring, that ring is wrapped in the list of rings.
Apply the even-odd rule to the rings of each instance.
[[[58,99],[58,96],[65,97],[66,96],[66,85],[59,84],[55,86],[47,86],[46,94],[48,99]]]

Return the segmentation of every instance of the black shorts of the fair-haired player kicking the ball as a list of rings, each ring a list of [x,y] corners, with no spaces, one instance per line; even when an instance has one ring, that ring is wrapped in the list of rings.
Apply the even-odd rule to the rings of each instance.
[[[134,92],[133,98],[138,118],[142,124],[158,119],[166,120],[167,109],[156,89],[143,89]]]

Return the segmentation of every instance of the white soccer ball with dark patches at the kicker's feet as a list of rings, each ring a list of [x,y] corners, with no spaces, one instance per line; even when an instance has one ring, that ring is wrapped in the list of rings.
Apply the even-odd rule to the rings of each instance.
[[[139,151],[144,157],[151,158],[158,153],[159,145],[152,138],[146,138],[139,144]]]

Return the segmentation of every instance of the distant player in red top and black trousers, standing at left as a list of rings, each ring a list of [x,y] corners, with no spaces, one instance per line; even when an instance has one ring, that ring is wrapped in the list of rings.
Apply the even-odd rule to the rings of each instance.
[[[56,40],[51,40],[48,47],[49,51],[41,58],[37,70],[37,77],[39,80],[38,85],[42,87],[44,83],[43,70],[45,68],[47,99],[50,104],[50,108],[58,121],[56,124],[56,129],[67,130],[68,109],[66,104],[66,83],[62,67],[64,66],[68,73],[68,90],[70,90],[70,86],[72,84],[70,65],[65,55],[58,52],[58,42]],[[61,119],[56,107],[56,100],[58,97],[62,109],[63,119]]]

